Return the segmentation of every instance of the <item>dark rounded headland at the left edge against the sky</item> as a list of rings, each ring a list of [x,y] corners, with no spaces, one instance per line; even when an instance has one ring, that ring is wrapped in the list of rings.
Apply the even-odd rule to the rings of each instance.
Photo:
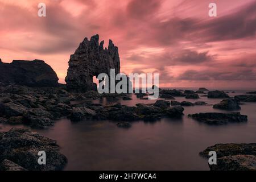
[[[42,60],[13,60],[10,64],[0,62],[0,77],[1,82],[31,87],[59,85],[56,73]]]

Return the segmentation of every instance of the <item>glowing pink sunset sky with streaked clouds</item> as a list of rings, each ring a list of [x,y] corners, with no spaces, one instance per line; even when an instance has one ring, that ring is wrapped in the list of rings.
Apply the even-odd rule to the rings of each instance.
[[[69,56],[99,34],[118,46],[122,72],[159,73],[160,86],[256,88],[255,10],[251,0],[0,0],[0,58],[42,59],[64,83]]]

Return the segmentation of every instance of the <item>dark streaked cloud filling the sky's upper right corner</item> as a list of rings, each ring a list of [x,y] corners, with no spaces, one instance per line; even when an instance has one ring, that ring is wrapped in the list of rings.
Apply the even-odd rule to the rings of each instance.
[[[231,14],[197,24],[196,30],[209,42],[255,36],[256,1]]]

